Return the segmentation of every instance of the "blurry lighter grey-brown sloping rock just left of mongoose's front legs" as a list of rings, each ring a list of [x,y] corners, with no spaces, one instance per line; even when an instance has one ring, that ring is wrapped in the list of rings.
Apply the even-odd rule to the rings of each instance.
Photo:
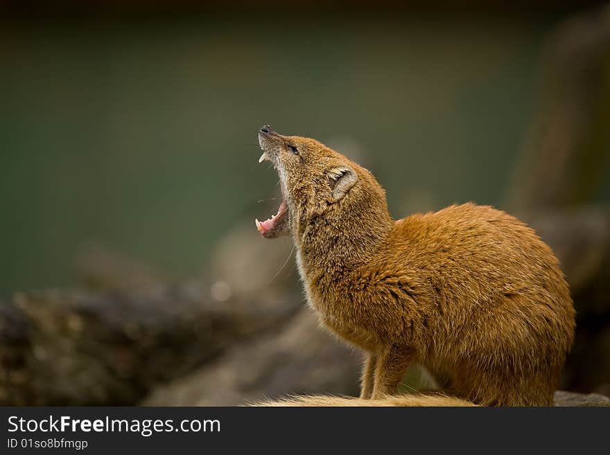
[[[279,330],[236,344],[218,359],[157,388],[143,404],[227,406],[293,393],[358,395],[360,354],[303,311]]]

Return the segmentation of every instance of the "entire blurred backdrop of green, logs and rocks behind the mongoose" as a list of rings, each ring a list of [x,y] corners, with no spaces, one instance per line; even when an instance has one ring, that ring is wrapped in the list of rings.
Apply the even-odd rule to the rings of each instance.
[[[598,3],[0,0],[0,404],[358,394],[292,242],[254,226],[278,206],[264,124],[372,170],[396,218],[534,226],[577,310],[559,386],[610,396]]]

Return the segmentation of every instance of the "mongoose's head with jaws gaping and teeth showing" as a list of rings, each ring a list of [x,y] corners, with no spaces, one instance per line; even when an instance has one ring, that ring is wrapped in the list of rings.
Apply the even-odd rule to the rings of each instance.
[[[282,136],[270,125],[259,130],[259,163],[270,161],[279,175],[282,202],[276,215],[256,228],[265,238],[300,235],[312,220],[340,217],[341,226],[389,219],[385,192],[371,173],[315,139]],[[347,210],[346,210],[347,209]],[[374,223],[374,220],[372,220]],[[362,226],[359,226],[360,229]]]

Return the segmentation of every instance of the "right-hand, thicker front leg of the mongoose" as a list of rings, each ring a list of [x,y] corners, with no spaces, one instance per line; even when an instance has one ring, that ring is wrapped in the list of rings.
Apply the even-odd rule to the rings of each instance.
[[[392,395],[398,388],[411,360],[408,348],[391,346],[378,354],[372,398],[378,400]]]

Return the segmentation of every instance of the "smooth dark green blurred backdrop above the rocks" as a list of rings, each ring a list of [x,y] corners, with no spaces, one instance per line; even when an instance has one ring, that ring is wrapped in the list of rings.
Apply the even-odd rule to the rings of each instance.
[[[394,217],[502,206],[562,17],[3,21],[0,293],[70,285],[90,242],[190,276],[237,222],[257,238],[264,123],[361,161]]]

